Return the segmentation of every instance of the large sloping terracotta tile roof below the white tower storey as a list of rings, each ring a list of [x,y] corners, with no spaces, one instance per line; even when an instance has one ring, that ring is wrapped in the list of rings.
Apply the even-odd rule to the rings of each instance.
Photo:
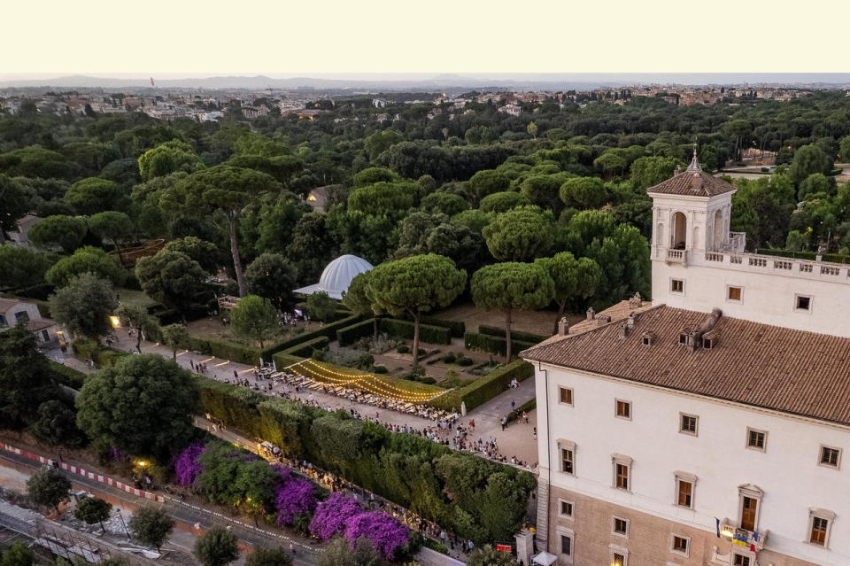
[[[823,421],[850,424],[850,338],[721,317],[707,337],[711,350],[690,351],[679,334],[707,318],[671,306],[638,315],[622,337],[622,323],[542,343],[521,353],[542,361],[621,377]],[[653,333],[651,345],[643,344]]]

